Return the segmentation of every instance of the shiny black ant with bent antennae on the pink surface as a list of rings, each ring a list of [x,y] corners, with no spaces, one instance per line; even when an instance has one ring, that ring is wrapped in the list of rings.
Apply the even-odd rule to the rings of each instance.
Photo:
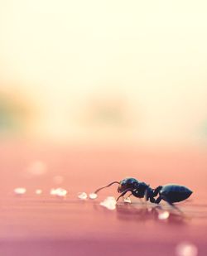
[[[132,177],[125,178],[119,182],[113,181],[107,186],[100,187],[94,191],[94,193],[97,194],[99,191],[103,190],[103,188],[112,186],[115,183],[119,185],[118,193],[121,193],[121,195],[118,196],[117,201],[120,197],[124,196],[128,191],[130,191],[130,196],[135,196],[138,198],[145,197],[146,200],[150,200],[155,204],[159,204],[161,200],[165,200],[169,205],[173,205],[173,203],[187,199],[192,194],[192,191],[190,191],[189,188],[177,184],[166,184],[165,186],[157,186],[156,189],[152,189],[145,182],[137,181]],[[155,196],[158,197],[155,199]]]

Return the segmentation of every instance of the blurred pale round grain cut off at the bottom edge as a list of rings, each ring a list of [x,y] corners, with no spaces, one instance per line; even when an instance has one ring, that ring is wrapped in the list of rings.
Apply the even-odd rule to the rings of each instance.
[[[195,244],[184,242],[176,246],[176,255],[177,256],[197,256],[198,249],[195,246]]]

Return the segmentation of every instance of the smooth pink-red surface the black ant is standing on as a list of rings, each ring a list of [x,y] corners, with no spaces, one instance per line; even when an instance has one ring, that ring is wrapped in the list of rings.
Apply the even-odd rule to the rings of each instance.
[[[0,255],[176,255],[182,242],[207,255],[205,152],[142,152],[140,149],[87,147],[31,147],[4,143],[0,149]],[[31,162],[46,163],[46,173],[27,176]],[[55,185],[53,177],[64,181]],[[158,220],[161,209],[133,199],[116,210],[99,205],[106,196],[118,196],[117,187],[96,200],[79,200],[77,193],[94,191],[108,181],[134,176],[152,187],[175,182],[194,191],[173,211]],[[14,196],[17,186],[26,195]],[[52,187],[69,191],[65,199],[50,195]],[[34,191],[41,188],[42,195]],[[165,210],[169,207],[162,203]]]

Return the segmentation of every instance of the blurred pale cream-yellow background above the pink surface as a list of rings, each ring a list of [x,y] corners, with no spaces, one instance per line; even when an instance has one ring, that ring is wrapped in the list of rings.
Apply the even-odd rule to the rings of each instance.
[[[0,0],[0,136],[206,148],[205,1]]]

